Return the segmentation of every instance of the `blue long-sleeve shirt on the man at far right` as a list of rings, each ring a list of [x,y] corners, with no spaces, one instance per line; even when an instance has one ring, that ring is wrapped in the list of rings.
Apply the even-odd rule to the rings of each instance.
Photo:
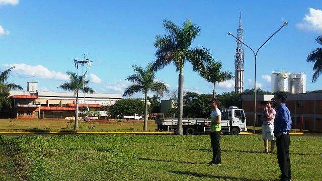
[[[290,131],[292,127],[291,114],[285,104],[281,104],[276,109],[276,116],[274,121],[274,134]]]

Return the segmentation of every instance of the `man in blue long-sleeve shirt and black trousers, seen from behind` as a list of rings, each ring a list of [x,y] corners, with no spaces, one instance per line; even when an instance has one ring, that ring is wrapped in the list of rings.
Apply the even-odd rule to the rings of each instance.
[[[281,170],[280,180],[291,180],[291,163],[289,155],[290,147],[290,129],[292,127],[291,114],[285,106],[287,95],[278,93],[272,101],[275,101],[276,116],[274,122],[274,135],[276,137],[277,160]]]

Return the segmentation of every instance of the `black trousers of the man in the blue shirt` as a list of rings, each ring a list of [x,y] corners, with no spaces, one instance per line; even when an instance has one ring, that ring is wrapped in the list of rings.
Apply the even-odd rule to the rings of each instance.
[[[289,134],[282,134],[281,136],[276,137],[277,160],[281,170],[281,179],[291,179],[289,147]]]

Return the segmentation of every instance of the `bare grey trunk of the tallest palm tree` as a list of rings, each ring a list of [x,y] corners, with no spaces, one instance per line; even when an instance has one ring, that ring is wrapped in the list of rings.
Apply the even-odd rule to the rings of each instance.
[[[178,87],[178,98],[179,98],[179,115],[178,115],[178,125],[177,134],[183,135],[182,129],[182,116],[183,116],[183,66],[180,67],[179,73],[179,87]]]

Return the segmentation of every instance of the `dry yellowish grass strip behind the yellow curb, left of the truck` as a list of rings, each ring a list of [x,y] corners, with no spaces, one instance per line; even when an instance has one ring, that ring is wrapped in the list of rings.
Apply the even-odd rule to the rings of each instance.
[[[71,131],[73,121],[64,119],[0,119],[0,131]],[[155,131],[154,121],[148,121],[149,131]],[[111,120],[107,123],[79,122],[79,131],[142,131],[143,122],[118,122]]]

